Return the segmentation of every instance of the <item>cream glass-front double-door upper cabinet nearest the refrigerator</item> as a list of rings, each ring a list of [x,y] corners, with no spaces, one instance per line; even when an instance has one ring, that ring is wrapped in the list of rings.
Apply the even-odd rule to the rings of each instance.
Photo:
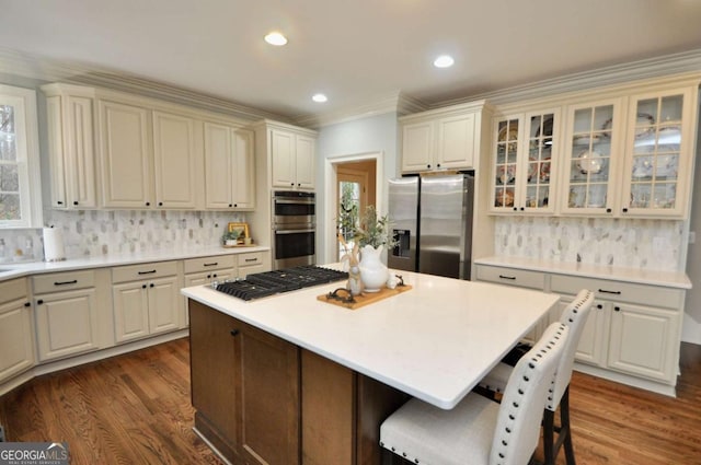
[[[553,213],[560,109],[493,119],[493,213]]]

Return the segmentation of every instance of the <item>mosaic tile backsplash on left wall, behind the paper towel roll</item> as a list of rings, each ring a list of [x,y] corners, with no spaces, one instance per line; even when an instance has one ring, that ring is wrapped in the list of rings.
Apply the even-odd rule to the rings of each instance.
[[[212,211],[45,211],[61,228],[67,258],[138,254],[219,244],[229,222],[243,213]],[[41,229],[0,230],[0,261],[44,259]]]

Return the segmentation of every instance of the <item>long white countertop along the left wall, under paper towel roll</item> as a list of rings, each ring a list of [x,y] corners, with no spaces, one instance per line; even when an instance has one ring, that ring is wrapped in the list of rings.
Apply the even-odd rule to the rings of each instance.
[[[0,281],[43,272],[70,271],[84,268],[102,268],[119,265],[135,265],[149,261],[180,260],[185,258],[206,257],[210,255],[245,254],[250,252],[269,251],[269,247],[231,247],[221,246],[175,248],[169,251],[148,252],[124,255],[102,255],[85,258],[69,258],[64,261],[28,261],[0,263]],[[5,271],[7,269],[7,271]]]

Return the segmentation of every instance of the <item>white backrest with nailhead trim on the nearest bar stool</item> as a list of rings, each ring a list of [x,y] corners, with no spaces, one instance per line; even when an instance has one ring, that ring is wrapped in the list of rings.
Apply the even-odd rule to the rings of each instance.
[[[530,460],[568,332],[566,325],[553,323],[514,367],[499,406],[490,465],[519,465]]]

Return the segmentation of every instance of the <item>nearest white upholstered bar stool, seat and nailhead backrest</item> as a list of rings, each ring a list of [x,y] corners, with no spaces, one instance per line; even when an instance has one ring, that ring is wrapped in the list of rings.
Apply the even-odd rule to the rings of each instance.
[[[413,398],[380,426],[380,445],[420,465],[527,464],[567,332],[561,323],[545,329],[514,368],[502,404],[470,393],[443,410]]]

